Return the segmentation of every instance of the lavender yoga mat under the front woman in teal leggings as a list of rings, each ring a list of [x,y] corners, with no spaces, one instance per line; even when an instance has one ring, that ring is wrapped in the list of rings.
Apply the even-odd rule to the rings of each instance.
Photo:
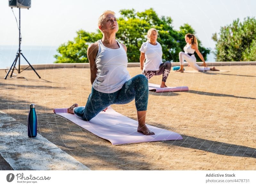
[[[155,135],[143,135],[137,132],[138,121],[114,111],[110,106],[106,112],[100,112],[90,121],[84,121],[75,114],[67,113],[67,108],[57,108],[54,109],[54,112],[96,136],[110,141],[113,145],[183,139],[178,133],[150,125],[147,127]]]

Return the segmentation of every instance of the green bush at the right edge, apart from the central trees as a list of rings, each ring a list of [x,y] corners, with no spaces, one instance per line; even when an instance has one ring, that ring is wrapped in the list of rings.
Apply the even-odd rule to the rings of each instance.
[[[232,24],[220,28],[219,37],[217,33],[212,35],[216,41],[217,61],[248,61],[256,60],[256,19],[247,17],[243,22],[239,19]]]

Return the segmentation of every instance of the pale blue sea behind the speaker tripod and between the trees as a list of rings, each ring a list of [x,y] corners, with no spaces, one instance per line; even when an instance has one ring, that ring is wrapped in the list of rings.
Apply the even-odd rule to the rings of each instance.
[[[12,66],[12,63],[16,57],[16,53],[19,46],[4,46],[0,45],[0,68],[8,68]],[[54,55],[58,54],[58,46],[21,46],[21,52],[28,60],[33,64],[53,64],[56,60]],[[212,51],[214,49],[211,49]],[[215,55],[213,52],[208,54],[207,60],[209,62],[215,61]],[[25,59],[21,57],[21,65],[27,64]],[[18,65],[18,62],[16,66]]]

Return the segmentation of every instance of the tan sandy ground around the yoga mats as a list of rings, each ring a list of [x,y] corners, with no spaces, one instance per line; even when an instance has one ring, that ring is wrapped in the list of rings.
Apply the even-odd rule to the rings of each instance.
[[[25,79],[1,78],[0,110],[26,125],[29,104],[35,103],[38,133],[92,170],[256,170],[256,66],[218,68],[230,72],[172,71],[167,85],[189,91],[149,92],[146,122],[183,140],[112,145],[55,115],[53,108],[85,105],[91,91],[85,68],[37,70],[42,79],[32,70],[18,74]],[[140,74],[138,67],[128,71]],[[155,76],[149,82],[161,80]],[[112,107],[137,120],[134,101]],[[2,158],[0,164],[10,169]]]

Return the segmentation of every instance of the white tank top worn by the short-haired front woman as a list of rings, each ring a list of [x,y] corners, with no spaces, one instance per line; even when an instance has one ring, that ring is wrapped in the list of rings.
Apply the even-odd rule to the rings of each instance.
[[[92,87],[99,92],[116,92],[126,81],[131,79],[127,71],[127,54],[122,45],[118,41],[116,42],[119,49],[110,49],[105,47],[101,40],[98,40],[99,51],[95,59],[98,71]]]

